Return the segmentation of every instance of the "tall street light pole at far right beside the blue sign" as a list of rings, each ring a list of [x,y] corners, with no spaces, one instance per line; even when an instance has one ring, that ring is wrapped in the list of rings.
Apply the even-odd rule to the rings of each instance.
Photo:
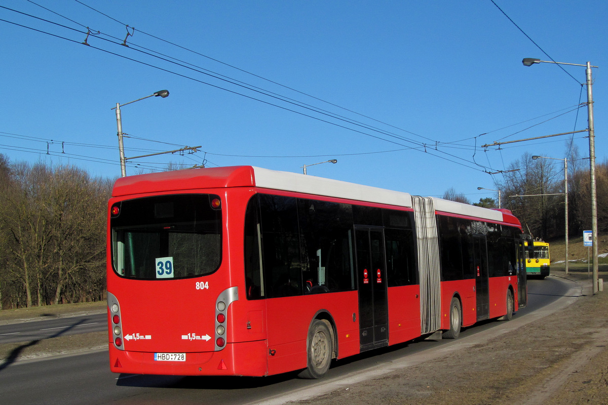
[[[590,62],[587,64],[576,64],[576,63],[562,63],[553,61],[541,61],[540,59],[524,58],[522,60],[523,66],[532,66],[535,63],[555,63],[561,65],[570,66],[584,66],[586,67],[586,78],[587,78],[587,120],[589,121],[589,181],[591,188],[591,232],[593,236],[593,294],[599,292],[598,283],[598,197],[596,194],[595,185],[595,130],[593,129],[593,91],[592,91],[592,77],[591,68],[598,67],[592,66]]]

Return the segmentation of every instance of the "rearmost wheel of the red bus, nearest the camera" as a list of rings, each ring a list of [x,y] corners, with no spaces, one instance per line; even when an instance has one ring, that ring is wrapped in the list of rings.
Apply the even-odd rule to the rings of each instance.
[[[330,369],[333,344],[328,325],[315,319],[308,330],[306,339],[307,367],[298,376],[300,378],[321,378]]]

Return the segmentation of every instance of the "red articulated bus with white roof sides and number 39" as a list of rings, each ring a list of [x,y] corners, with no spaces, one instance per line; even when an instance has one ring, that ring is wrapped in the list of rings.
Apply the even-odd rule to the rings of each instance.
[[[252,166],[123,177],[108,209],[112,372],[320,378],[526,304],[505,209]]]

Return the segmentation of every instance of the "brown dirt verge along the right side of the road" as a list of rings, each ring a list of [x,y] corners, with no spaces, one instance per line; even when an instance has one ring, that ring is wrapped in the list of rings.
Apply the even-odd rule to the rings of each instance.
[[[490,339],[457,339],[435,358],[297,404],[608,404],[608,292],[593,296],[586,271],[551,273],[578,292],[514,316]]]

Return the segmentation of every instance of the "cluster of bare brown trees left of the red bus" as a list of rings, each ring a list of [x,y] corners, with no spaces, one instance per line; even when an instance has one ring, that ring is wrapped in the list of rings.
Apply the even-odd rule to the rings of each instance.
[[[102,299],[110,180],[72,166],[18,163],[8,172],[0,194],[3,303]]]

